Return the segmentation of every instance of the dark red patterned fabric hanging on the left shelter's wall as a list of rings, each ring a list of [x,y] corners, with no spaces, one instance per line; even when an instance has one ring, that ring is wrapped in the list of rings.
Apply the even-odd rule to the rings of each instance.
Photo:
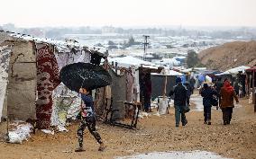
[[[53,47],[36,44],[37,49],[37,91],[36,117],[38,128],[49,128],[52,112],[52,91],[59,85],[59,66]]]

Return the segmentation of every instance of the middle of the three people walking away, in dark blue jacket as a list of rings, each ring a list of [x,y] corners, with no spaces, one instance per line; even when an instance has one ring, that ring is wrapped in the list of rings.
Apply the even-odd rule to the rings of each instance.
[[[213,96],[218,96],[218,93],[209,87],[208,84],[204,84],[201,95],[203,97],[203,105],[204,105],[204,117],[205,117],[205,124],[211,125],[211,108]]]

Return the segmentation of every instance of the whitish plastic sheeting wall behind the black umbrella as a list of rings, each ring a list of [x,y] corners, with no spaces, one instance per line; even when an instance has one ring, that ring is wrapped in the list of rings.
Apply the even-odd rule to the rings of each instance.
[[[59,71],[63,66],[77,63],[90,62],[90,53],[84,49],[71,51],[71,49],[55,50],[55,57],[59,66]],[[72,92],[64,84],[59,84],[53,91],[53,111],[51,114],[52,126],[65,126],[66,119],[75,119],[80,110],[81,98],[78,93]]]

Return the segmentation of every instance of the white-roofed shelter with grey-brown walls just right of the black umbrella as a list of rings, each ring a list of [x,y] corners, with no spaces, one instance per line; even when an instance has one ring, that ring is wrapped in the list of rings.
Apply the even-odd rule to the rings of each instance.
[[[142,78],[151,72],[159,72],[162,67],[135,57],[110,58],[112,64],[110,74],[113,78],[111,93],[113,97],[114,119],[123,119],[126,110],[123,102],[144,102],[142,93]]]

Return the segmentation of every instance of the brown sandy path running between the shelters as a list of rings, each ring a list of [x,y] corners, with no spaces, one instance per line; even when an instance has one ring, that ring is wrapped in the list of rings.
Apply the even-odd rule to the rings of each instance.
[[[78,146],[78,124],[73,124],[69,126],[69,132],[55,135],[38,130],[22,145],[0,142],[0,158],[110,159],[151,152],[191,150],[213,152],[230,158],[256,158],[256,114],[252,106],[247,104],[248,100],[241,100],[241,107],[234,109],[229,126],[222,125],[221,110],[214,108],[212,125],[204,125],[203,111],[196,109],[199,100],[198,95],[192,96],[191,101],[196,101],[198,105],[187,113],[186,127],[175,128],[173,108],[167,115],[151,115],[140,119],[137,130],[111,127],[98,122],[98,132],[107,146],[105,152],[97,151],[96,141],[86,130],[84,145],[87,151],[75,153],[74,149]],[[3,132],[5,123],[0,128]]]

